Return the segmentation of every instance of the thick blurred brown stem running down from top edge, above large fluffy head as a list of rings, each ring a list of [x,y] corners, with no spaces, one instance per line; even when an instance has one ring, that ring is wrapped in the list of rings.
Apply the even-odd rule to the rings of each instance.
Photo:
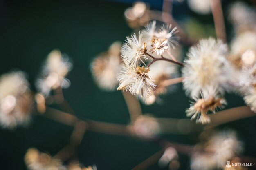
[[[214,26],[217,38],[227,41],[225,22],[220,0],[211,0],[211,11],[213,14]]]

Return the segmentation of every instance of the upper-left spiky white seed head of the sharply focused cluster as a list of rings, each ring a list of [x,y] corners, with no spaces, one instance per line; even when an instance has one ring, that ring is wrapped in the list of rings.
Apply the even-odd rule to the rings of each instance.
[[[139,32],[139,37],[136,34],[131,37],[127,37],[126,42],[121,48],[121,57],[127,65],[139,66],[142,62],[144,64],[145,59],[147,59],[145,52],[147,50],[146,43],[142,40],[142,33]]]

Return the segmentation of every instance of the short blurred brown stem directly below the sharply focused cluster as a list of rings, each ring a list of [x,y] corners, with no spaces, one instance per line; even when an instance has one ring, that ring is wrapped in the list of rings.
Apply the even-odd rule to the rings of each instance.
[[[130,114],[131,122],[133,123],[139,116],[142,115],[139,100],[135,95],[127,91],[123,91],[123,96]]]

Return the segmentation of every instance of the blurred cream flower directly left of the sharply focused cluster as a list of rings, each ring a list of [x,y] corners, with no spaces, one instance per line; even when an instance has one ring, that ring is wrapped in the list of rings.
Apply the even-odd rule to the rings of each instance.
[[[107,91],[117,88],[117,75],[121,71],[121,44],[114,42],[109,50],[99,54],[91,64],[91,71],[97,85]]]

